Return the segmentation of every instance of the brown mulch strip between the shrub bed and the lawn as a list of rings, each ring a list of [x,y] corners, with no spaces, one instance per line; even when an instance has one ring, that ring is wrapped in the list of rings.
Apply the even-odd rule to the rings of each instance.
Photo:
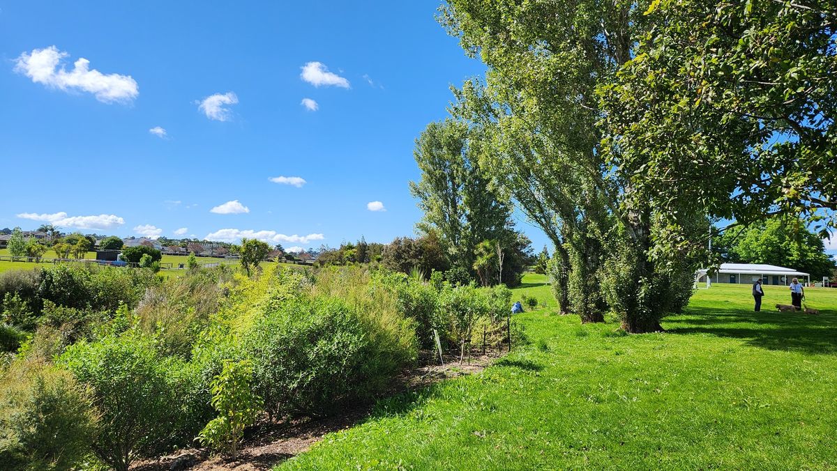
[[[423,363],[433,361],[429,354]],[[444,379],[469,375],[482,371],[498,356],[474,356],[460,365],[459,357],[445,358],[444,366],[419,366],[393,381],[393,388],[383,396],[428,387]],[[438,359],[438,356],[436,357]],[[372,412],[373,404],[363,404],[347,409],[331,417],[294,419],[270,422],[267,418],[245,433],[244,443],[236,458],[211,455],[205,448],[184,448],[167,456],[138,460],[131,469],[135,471],[256,471],[273,468],[285,459],[303,453],[319,442],[327,433],[352,427],[363,422]]]

